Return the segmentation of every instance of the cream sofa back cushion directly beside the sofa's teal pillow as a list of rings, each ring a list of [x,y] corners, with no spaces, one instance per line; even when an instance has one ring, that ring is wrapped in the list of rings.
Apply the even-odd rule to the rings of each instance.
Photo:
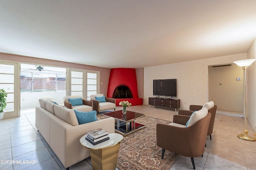
[[[63,121],[66,121],[72,126],[79,125],[78,120],[76,118],[76,114],[72,109],[68,109],[66,107],[59,105],[54,105],[54,113],[57,117],[59,117]]]

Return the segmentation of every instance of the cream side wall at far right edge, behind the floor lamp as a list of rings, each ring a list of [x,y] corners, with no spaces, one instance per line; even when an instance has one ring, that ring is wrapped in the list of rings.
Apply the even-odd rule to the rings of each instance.
[[[256,39],[248,50],[248,59],[256,59]],[[256,127],[256,61],[246,69],[247,121]]]

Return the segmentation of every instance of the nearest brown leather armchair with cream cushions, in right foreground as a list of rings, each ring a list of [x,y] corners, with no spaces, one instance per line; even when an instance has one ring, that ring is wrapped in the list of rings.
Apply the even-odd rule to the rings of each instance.
[[[208,113],[206,108],[198,112],[203,114],[199,117],[198,114],[193,114],[193,121],[190,120],[187,127],[186,123],[190,119],[190,116],[187,115],[174,115],[173,123],[170,124],[156,124],[156,144],[162,148],[162,159],[166,149],[190,157],[195,169],[194,157],[203,156],[204,154],[207,130],[211,118],[211,113]]]

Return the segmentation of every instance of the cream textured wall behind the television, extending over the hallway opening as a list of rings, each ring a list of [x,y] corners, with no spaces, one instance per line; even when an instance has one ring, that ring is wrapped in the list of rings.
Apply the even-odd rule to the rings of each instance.
[[[153,96],[153,79],[177,78],[180,109],[189,109],[191,104],[203,105],[208,102],[208,66],[242,59],[247,59],[247,53],[145,67],[143,104],[148,105],[148,97]]]

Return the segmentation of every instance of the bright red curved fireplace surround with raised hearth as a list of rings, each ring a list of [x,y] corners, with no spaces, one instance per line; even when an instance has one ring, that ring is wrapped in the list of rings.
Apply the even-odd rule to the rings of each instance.
[[[138,96],[137,78],[135,68],[112,68],[110,70],[110,76],[108,81],[107,97],[112,98],[113,92],[117,86],[124,84],[128,86],[132,92],[133,98],[116,99],[116,105],[118,106],[120,101],[128,100],[132,103],[132,106],[142,105],[143,99]]]

